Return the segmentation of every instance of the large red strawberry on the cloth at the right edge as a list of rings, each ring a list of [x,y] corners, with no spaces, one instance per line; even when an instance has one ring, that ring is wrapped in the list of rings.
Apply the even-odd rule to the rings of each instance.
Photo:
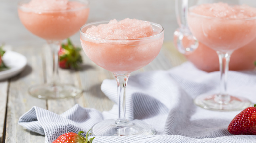
[[[227,129],[234,135],[256,135],[256,104],[236,115]]]

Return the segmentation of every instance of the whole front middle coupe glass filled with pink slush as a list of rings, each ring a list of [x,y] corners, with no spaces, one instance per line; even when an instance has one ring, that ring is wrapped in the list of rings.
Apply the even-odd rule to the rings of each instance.
[[[125,88],[132,71],[156,58],[163,44],[161,25],[126,18],[85,24],[80,40],[86,55],[111,71],[117,81],[117,119],[103,120],[92,127],[94,136],[153,135],[155,130],[141,120],[126,119]]]

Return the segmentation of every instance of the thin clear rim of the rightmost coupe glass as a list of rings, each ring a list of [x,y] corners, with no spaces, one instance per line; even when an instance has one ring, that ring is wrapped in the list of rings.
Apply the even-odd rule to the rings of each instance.
[[[198,16],[198,17],[203,17],[206,19],[220,19],[220,20],[224,20],[224,19],[228,19],[228,20],[255,20],[256,16],[253,17],[247,17],[247,18],[228,18],[228,17],[214,17],[214,16],[206,16],[206,15],[202,15],[202,14],[197,14],[194,12],[191,12],[192,8],[195,8],[196,6],[192,6],[188,9],[188,14],[189,15],[193,15],[193,16]]]

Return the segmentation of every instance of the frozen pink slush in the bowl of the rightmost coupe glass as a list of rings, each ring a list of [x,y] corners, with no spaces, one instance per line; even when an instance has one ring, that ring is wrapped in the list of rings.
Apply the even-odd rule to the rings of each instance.
[[[188,24],[192,34],[215,51],[227,52],[245,46],[256,36],[256,9],[226,3],[202,4],[190,8]]]

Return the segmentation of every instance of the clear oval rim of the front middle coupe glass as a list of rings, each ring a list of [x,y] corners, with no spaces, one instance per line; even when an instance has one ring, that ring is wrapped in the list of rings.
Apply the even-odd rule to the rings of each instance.
[[[120,21],[120,20],[123,20],[123,19],[116,19],[117,21]],[[121,41],[121,40],[149,40],[149,39],[154,39],[154,38],[157,38],[159,36],[161,36],[162,34],[164,34],[164,28],[163,26],[161,26],[160,24],[157,24],[157,23],[154,23],[154,22],[150,22],[150,21],[147,21],[147,22],[150,22],[151,25],[155,25],[157,27],[160,27],[162,30],[160,32],[158,32],[157,34],[155,35],[152,35],[152,36],[148,36],[148,37],[142,37],[142,38],[135,38],[135,39],[110,39],[110,38],[99,38],[99,37],[95,37],[95,36],[91,36],[91,35],[88,35],[88,34],[85,34],[85,32],[82,31],[83,28],[85,27],[88,27],[90,28],[89,26],[93,26],[95,24],[107,24],[110,20],[100,20],[100,21],[95,21],[95,22],[90,22],[90,23],[87,23],[85,25],[83,25],[81,28],[80,28],[80,34],[82,34],[84,37],[87,37],[87,38],[90,38],[90,39],[94,39],[94,40],[100,40],[100,41],[105,41],[105,40],[116,40],[116,41]]]

